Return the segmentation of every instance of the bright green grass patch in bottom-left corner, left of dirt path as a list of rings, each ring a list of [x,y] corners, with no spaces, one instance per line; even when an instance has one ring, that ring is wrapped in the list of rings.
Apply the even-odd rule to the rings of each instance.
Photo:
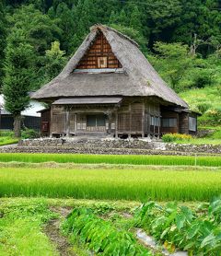
[[[52,217],[45,202],[1,202],[0,214],[1,256],[59,255],[42,232],[42,225]]]

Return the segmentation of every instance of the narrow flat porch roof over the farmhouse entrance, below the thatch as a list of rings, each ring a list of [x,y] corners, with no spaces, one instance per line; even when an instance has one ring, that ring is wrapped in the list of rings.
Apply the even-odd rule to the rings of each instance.
[[[75,104],[117,104],[122,101],[121,97],[83,97],[83,98],[63,98],[55,100],[53,105],[75,105]]]

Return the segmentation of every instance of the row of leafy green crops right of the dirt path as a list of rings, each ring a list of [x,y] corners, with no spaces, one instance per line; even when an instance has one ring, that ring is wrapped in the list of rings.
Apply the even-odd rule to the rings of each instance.
[[[96,255],[152,255],[136,242],[132,233],[117,229],[111,221],[99,218],[87,208],[74,209],[63,227],[66,234],[70,233],[72,237],[80,239]]]

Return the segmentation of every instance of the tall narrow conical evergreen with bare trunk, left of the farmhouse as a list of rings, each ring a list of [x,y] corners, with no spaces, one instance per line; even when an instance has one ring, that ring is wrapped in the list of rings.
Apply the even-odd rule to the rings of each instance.
[[[14,116],[14,130],[20,136],[21,111],[29,107],[29,89],[33,74],[33,47],[22,29],[13,29],[6,41],[4,99],[6,111]]]

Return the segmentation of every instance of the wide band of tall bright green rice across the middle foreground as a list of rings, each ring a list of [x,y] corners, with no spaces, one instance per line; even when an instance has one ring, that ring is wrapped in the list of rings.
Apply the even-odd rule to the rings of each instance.
[[[0,196],[209,201],[221,171],[165,169],[0,169]]]

